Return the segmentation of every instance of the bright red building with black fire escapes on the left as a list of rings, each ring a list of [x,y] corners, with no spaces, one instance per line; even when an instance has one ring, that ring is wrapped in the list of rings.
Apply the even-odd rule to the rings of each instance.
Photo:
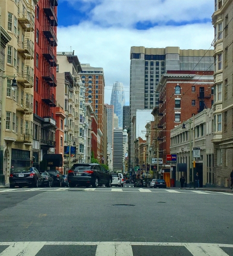
[[[55,153],[57,0],[39,0],[35,17],[34,166]]]

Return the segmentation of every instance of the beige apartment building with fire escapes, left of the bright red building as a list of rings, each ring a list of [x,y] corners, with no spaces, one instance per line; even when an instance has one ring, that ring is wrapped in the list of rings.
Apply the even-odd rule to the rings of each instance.
[[[1,0],[1,25],[11,40],[2,73],[3,174],[8,182],[12,166],[31,166],[33,143],[34,27],[37,0]],[[15,77],[18,88],[11,88]],[[1,159],[2,161],[2,159]]]

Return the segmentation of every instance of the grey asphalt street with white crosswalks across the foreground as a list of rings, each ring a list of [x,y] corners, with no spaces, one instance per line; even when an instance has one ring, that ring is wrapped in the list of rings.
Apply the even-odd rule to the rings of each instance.
[[[133,188],[0,190],[0,256],[233,255],[233,194]]]

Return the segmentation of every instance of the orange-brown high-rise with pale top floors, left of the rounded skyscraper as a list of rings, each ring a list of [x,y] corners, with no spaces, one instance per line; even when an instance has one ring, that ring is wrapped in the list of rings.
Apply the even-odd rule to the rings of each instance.
[[[92,67],[90,64],[81,64],[81,79],[85,84],[85,100],[92,104],[94,113],[98,118],[98,136],[100,141],[98,143],[97,157],[104,156],[104,95],[105,95],[105,76],[102,67]]]

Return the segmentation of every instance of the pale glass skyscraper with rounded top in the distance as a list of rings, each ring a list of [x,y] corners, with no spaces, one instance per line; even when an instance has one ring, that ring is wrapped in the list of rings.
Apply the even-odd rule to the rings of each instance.
[[[118,81],[114,82],[110,104],[114,106],[114,113],[118,116],[118,126],[123,127],[123,106],[125,105],[125,91],[123,83]]]

